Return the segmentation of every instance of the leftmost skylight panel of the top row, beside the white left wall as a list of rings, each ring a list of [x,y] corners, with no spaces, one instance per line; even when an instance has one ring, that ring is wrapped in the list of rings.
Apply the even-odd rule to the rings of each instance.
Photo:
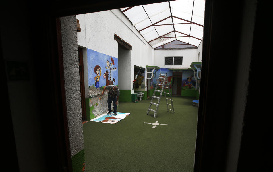
[[[145,13],[142,5],[135,6],[127,11],[124,14],[129,18],[133,25],[139,24],[140,22],[146,20],[148,18]]]

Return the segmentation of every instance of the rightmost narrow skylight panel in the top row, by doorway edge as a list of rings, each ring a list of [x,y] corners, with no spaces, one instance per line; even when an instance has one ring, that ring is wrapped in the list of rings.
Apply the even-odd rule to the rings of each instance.
[[[193,6],[192,22],[204,25],[204,15],[205,15],[205,1],[195,0],[194,6]]]

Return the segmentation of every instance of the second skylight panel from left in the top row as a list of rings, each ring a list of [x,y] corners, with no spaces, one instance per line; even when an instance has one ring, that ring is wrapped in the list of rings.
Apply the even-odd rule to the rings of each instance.
[[[156,23],[168,16],[171,16],[169,2],[155,3],[143,5],[146,13],[150,17],[152,23]]]

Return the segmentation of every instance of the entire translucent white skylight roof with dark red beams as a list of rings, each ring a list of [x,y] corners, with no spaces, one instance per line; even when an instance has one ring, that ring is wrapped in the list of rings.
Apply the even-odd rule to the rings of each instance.
[[[167,7],[167,4],[169,7]],[[175,4],[184,4],[184,6],[191,7],[190,9],[185,9],[186,11],[181,11],[183,8],[177,8],[178,6]],[[148,5],[140,5],[140,6],[134,6],[140,9],[141,7],[146,13],[146,24],[142,23],[142,27],[140,28],[137,26],[137,24],[141,23],[144,21],[140,19],[140,22],[134,24],[135,28],[138,30],[138,32],[142,35],[143,33],[146,33],[146,35],[142,35],[144,39],[150,44],[150,46],[153,49],[156,49],[162,45],[166,45],[167,40],[172,40],[172,41],[180,41],[183,42],[187,45],[191,45],[193,47],[198,47],[200,41],[203,38],[203,32],[204,32],[204,0],[189,0],[187,2],[185,1],[167,1],[167,2],[161,2],[161,3],[155,3],[155,4],[148,4]],[[157,8],[153,7],[155,5]],[[174,7],[171,7],[174,6]],[[126,7],[120,9],[123,14],[126,15],[129,13],[134,13],[134,7]],[[149,7],[154,8],[154,9],[148,9]],[[147,11],[148,13],[147,13]],[[169,10],[169,13],[166,11]],[[175,10],[175,15],[172,13],[173,10]],[[189,17],[189,14],[187,14],[186,19],[183,18],[183,16],[177,16],[179,14],[185,14],[186,12],[191,11],[191,17]],[[125,13],[124,13],[125,12]],[[169,15],[170,16],[167,16]],[[138,14],[132,15],[131,16],[136,16]],[[141,14],[142,15],[142,14]],[[143,13],[144,15],[144,13]],[[158,16],[161,16],[163,19],[156,18]],[[166,17],[167,16],[167,17]],[[144,16],[142,16],[144,17]],[[152,20],[151,20],[152,17]],[[127,18],[131,21],[130,17],[127,16]],[[145,17],[144,17],[145,18]],[[191,18],[191,19],[190,19]],[[148,22],[148,20],[150,22]],[[174,22],[175,21],[175,22]],[[131,21],[132,22],[132,21]],[[132,22],[133,24],[133,22]],[[143,25],[144,24],[144,25]],[[149,24],[149,25],[148,25]],[[186,26],[186,27],[185,27]],[[187,26],[189,28],[187,28]],[[150,28],[151,27],[151,28]],[[153,29],[152,29],[153,28]],[[163,28],[167,28],[166,30]],[[187,29],[187,30],[185,30]],[[156,31],[154,33],[149,33],[149,30]],[[143,32],[144,31],[144,32]],[[146,32],[145,32],[146,31]],[[168,33],[166,33],[166,32]],[[149,34],[147,34],[149,33]],[[156,33],[156,34],[155,34]],[[154,35],[153,35],[154,34]],[[166,35],[170,36],[166,36]],[[173,35],[174,34],[174,35]],[[174,39],[175,38],[175,39]],[[156,40],[156,41],[155,41]],[[161,44],[159,43],[161,41]],[[172,42],[171,41],[171,42]],[[167,43],[166,43],[167,42]],[[156,45],[159,45],[155,47]],[[184,45],[184,44],[183,44]]]

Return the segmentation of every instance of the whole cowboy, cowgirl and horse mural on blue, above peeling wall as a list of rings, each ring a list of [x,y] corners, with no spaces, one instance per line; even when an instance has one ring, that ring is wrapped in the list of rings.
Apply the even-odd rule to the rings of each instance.
[[[87,65],[89,86],[118,85],[117,58],[87,49]]]

